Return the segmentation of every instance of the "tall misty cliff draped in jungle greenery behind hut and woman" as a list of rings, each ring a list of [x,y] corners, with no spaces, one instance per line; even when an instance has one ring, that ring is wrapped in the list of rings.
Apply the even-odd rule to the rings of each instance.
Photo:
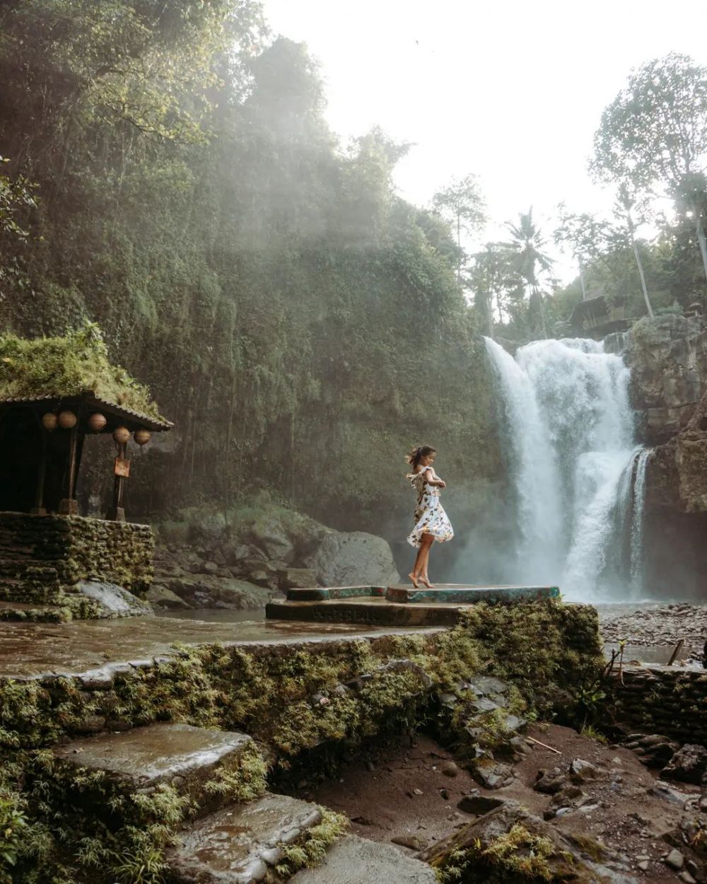
[[[27,236],[0,238],[0,329],[97,322],[150,385],[176,429],[133,452],[129,514],[264,487],[385,532],[409,520],[420,443],[452,512],[492,496],[483,346],[448,229],[395,194],[406,148],[377,130],[340,145],[315,63],[251,0],[61,5],[0,12],[0,154],[38,200]],[[98,512],[106,470],[87,466]]]

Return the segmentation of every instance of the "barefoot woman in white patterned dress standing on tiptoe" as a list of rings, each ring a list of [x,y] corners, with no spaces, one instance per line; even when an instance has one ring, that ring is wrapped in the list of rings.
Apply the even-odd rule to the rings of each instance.
[[[417,557],[414,560],[414,568],[407,575],[417,589],[418,581],[424,583],[429,589],[434,586],[430,583],[427,574],[427,566],[430,560],[430,546],[438,540],[443,544],[446,540],[454,537],[454,530],[439,502],[439,489],[445,488],[446,483],[437,476],[433,464],[437,457],[437,450],[429,445],[423,445],[407,455],[407,462],[413,468],[408,473],[408,478],[417,492],[417,507],[414,511],[414,529],[407,537],[407,542],[417,546]]]

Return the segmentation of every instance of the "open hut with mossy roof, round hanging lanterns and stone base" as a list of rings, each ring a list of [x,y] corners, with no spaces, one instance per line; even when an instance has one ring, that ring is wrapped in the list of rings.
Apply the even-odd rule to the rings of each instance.
[[[61,338],[0,335],[0,616],[147,613],[155,538],[126,522],[127,443],[171,428],[146,387],[108,359],[94,324]],[[84,446],[110,433],[113,499],[105,519],[79,513]],[[107,469],[108,465],[106,465]]]

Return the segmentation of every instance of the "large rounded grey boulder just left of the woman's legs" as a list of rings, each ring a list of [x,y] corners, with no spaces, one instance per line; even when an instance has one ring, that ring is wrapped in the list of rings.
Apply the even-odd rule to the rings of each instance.
[[[322,586],[388,586],[400,581],[388,542],[364,531],[327,534],[305,564]]]

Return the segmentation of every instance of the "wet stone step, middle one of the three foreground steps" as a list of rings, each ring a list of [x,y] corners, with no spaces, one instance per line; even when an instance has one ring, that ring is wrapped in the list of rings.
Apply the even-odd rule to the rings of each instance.
[[[321,808],[299,798],[266,793],[196,820],[167,850],[175,884],[257,884],[282,880],[286,851],[308,840],[323,821]],[[333,882],[332,882],[333,884]]]

